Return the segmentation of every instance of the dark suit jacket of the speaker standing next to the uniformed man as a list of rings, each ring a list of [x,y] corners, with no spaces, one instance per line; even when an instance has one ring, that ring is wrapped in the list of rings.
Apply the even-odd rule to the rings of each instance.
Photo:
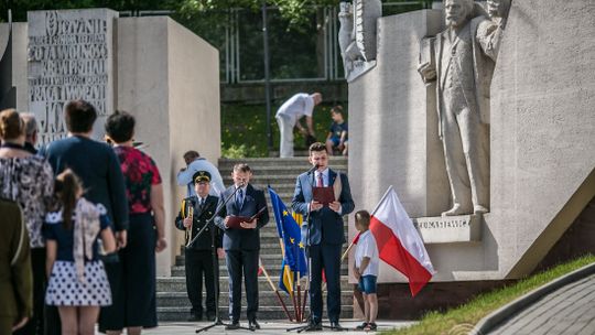
[[[236,190],[236,186],[231,185],[227,187],[219,199],[223,204]],[[225,217],[228,215],[235,216],[253,216],[262,207],[264,213],[260,215],[257,220],[257,227],[255,229],[235,229],[225,227]],[[225,208],[221,209],[219,216],[215,218],[215,224],[221,228],[225,234],[223,238],[223,246],[225,250],[260,250],[260,228],[264,227],[269,223],[269,209],[267,207],[267,199],[264,198],[264,192],[255,188],[251,184],[246,187],[246,195],[244,196],[244,204],[241,208],[236,205],[235,198],[229,199]]]

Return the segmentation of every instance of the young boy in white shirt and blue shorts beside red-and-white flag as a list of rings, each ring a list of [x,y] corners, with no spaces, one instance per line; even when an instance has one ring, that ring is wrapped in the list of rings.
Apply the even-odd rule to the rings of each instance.
[[[376,295],[376,279],[378,278],[378,247],[369,230],[370,214],[359,210],[355,214],[356,228],[360,231],[355,253],[354,274],[359,281],[359,290],[364,293],[366,321],[357,326],[358,329],[376,331],[378,315],[378,296]]]

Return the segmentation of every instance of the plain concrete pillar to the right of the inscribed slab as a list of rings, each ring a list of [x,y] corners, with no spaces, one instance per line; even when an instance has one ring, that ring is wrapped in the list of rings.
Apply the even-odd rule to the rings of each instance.
[[[134,138],[161,171],[169,248],[158,274],[169,275],[183,238],[173,226],[185,195],[175,183],[182,154],[220,155],[218,52],[166,17],[119,19],[117,106],[137,116]]]

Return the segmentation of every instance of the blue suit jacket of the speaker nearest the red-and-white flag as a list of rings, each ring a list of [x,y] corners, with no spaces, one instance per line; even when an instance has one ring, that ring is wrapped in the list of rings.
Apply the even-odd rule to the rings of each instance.
[[[312,187],[314,186],[314,173],[302,173],[295,182],[295,192],[291,206],[293,210],[302,214],[306,219],[302,224],[302,240],[311,245],[342,245],[345,242],[345,229],[343,227],[343,216],[354,210],[355,204],[351,198],[349,180],[347,175],[328,169],[328,185],[335,184],[336,179],[340,179],[342,190],[338,196],[340,203],[340,214],[324,206],[320,210],[310,213],[309,204],[313,199]],[[307,229],[310,227],[310,241]]]

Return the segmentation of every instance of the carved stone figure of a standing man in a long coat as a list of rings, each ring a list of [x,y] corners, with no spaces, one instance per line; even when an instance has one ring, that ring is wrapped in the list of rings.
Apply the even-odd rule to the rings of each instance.
[[[439,136],[453,206],[443,216],[489,212],[489,88],[510,0],[445,0],[446,30],[421,43],[419,72],[436,82]]]

